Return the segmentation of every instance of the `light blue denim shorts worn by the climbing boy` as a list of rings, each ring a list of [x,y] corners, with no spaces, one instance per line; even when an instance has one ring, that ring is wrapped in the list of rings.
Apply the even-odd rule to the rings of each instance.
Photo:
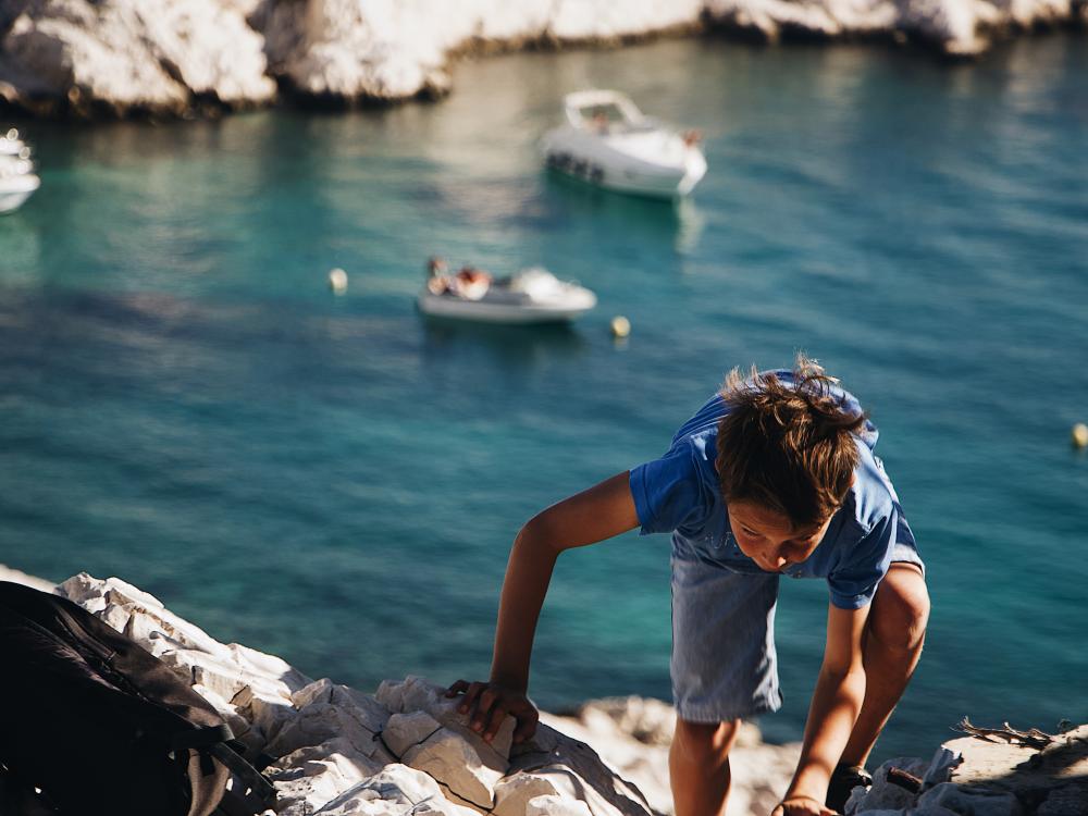
[[[898,543],[892,562],[915,564]],[[782,705],[775,652],[779,576],[741,573],[672,552],[672,701],[689,722],[724,722]]]

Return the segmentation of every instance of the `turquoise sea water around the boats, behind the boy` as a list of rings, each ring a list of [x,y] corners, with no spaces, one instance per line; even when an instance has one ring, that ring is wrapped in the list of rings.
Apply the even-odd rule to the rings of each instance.
[[[482,677],[518,527],[662,453],[730,367],[804,348],[871,410],[930,569],[878,754],[963,715],[1084,721],[1086,75],[1064,35],[961,65],[687,40],[466,63],[434,106],[28,124],[42,188],[0,220],[0,561],[121,576],[363,689]],[[691,201],[541,170],[559,96],[593,85],[702,128]],[[428,323],[435,252],[543,263],[601,305]],[[668,548],[560,559],[539,702],[668,697]],[[825,605],[783,584],[772,739],[800,737]]]

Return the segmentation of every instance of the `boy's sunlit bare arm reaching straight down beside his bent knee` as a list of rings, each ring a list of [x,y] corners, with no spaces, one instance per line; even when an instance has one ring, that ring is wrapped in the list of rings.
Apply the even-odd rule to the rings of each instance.
[[[801,759],[786,799],[772,816],[834,813],[824,800],[865,697],[862,632],[868,611],[868,606],[840,609],[828,605],[824,664],[808,706]]]

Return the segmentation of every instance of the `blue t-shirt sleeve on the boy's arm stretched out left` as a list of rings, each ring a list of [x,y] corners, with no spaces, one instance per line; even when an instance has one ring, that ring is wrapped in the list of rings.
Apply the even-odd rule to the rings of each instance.
[[[630,486],[643,535],[670,533],[706,515],[702,481],[687,445],[632,468]]]

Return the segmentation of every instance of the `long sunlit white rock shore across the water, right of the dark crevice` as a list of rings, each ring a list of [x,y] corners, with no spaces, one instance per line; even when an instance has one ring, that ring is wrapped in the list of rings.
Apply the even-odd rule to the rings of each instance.
[[[262,0],[250,22],[273,75],[305,95],[351,101],[443,92],[448,57],[481,44],[614,42],[710,21],[771,40],[907,33],[972,54],[988,30],[1076,14],[1075,0]]]

